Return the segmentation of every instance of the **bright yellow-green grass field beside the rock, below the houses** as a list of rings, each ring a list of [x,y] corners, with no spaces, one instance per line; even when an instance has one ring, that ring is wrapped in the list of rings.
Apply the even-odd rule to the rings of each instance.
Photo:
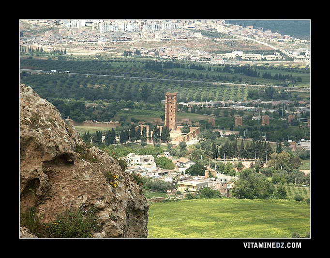
[[[310,205],[234,198],[152,203],[148,238],[291,238],[311,230]]]

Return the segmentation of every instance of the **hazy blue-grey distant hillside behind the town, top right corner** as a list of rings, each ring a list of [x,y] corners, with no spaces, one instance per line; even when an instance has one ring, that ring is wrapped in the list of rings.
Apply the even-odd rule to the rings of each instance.
[[[253,25],[254,29],[262,27],[264,31],[270,30],[293,38],[311,40],[311,20],[225,20],[225,23],[243,27]]]

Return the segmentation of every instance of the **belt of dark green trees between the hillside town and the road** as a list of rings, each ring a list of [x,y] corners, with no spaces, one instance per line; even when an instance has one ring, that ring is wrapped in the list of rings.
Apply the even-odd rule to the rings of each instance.
[[[55,51],[63,51],[62,49],[54,49]],[[64,49],[65,51],[65,49]],[[62,60],[60,60],[62,59]],[[247,72],[250,68],[246,67],[243,73],[235,73],[234,76],[228,76],[229,74],[233,74],[231,71],[233,70],[241,70],[239,67],[231,67],[229,66],[228,72],[227,70],[219,70],[219,72],[212,71],[209,69],[211,66],[208,67],[208,72],[204,72],[206,69],[204,67],[203,72],[199,72],[199,66],[192,64],[193,69],[189,69],[189,66],[186,66],[191,72],[187,71],[186,69],[171,69],[171,68],[159,68],[160,66],[165,67],[165,62],[155,62],[155,61],[144,61],[143,59],[139,59],[137,64],[128,65],[127,60],[120,60],[122,64],[120,65],[112,65],[112,63],[119,62],[119,60],[86,60],[86,61],[73,61],[73,60],[66,60],[65,58],[59,58],[59,60],[38,60],[36,58],[26,58],[21,59],[20,64],[22,66],[32,66],[35,69],[41,69],[45,71],[50,71],[52,69],[57,70],[70,70],[73,73],[85,73],[85,74],[99,74],[99,75],[113,75],[113,76],[129,76],[129,77],[145,77],[147,78],[162,78],[162,79],[175,79],[175,80],[189,80],[189,81],[213,81],[213,82],[239,82],[239,83],[246,83],[246,84],[263,84],[266,83],[265,80],[262,78],[255,77],[255,72],[253,76],[251,72]],[[135,60],[136,61],[136,60]],[[150,63],[154,63],[152,65]],[[150,65],[149,65],[150,64]],[[182,66],[181,63],[179,63]],[[55,68],[54,68],[55,67]],[[149,68],[150,67],[150,68]],[[154,68],[154,70],[152,69]],[[196,69],[198,68],[198,69]],[[217,67],[218,68],[218,67]],[[259,69],[259,67],[258,67]],[[193,71],[192,71],[193,70]],[[300,69],[301,70],[301,69]],[[238,75],[242,74],[243,76],[240,77]],[[38,75],[39,76],[39,75]],[[297,77],[296,74],[288,75],[293,80]],[[285,82],[283,78],[274,77],[272,78],[275,80],[278,78],[280,81]],[[255,81],[257,80],[258,83]],[[274,83],[273,81],[268,81],[268,83]],[[280,83],[281,84],[281,83]],[[279,85],[279,84],[278,84]]]

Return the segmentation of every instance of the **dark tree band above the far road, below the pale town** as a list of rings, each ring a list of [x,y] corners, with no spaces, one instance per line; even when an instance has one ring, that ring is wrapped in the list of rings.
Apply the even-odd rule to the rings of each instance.
[[[52,53],[56,53],[57,51],[65,52],[66,50],[62,49],[54,49]],[[134,62],[135,61],[135,62]],[[112,65],[113,63],[122,63],[120,67]],[[133,67],[131,65],[125,65],[128,63],[135,63]],[[212,66],[212,65],[202,65],[202,64],[184,64],[182,62],[173,62],[173,61],[148,61],[143,59],[137,59],[137,60],[125,60],[125,59],[109,59],[109,60],[86,60],[86,61],[80,61],[80,60],[71,60],[66,56],[60,55],[58,60],[49,59],[49,60],[39,60],[38,58],[22,58],[20,60],[20,64],[23,66],[33,66],[36,67],[36,69],[41,70],[53,70],[57,69],[60,70],[60,67],[63,67],[63,70],[70,70],[74,73],[86,73],[86,74],[105,74],[105,75],[117,75],[122,76],[123,74],[126,76],[138,76],[141,77],[141,75],[146,74],[145,77],[147,77],[147,74],[152,71],[153,76],[152,78],[166,78],[166,79],[177,79],[177,77],[180,77],[180,79],[184,80],[202,80],[202,81],[214,81],[214,82],[239,82],[239,83],[247,83],[247,84],[254,84],[253,81],[254,78],[260,77],[259,74],[256,72],[256,69],[262,69],[261,66],[250,66],[250,65],[244,65],[243,67],[240,67],[238,65],[224,65],[223,68],[220,68],[219,66]],[[54,68],[55,67],[55,68]],[[172,68],[171,68],[172,67]],[[180,69],[175,70],[173,68]],[[213,67],[213,71],[212,68]],[[254,67],[254,71],[252,70]],[[120,68],[120,69],[118,69]],[[201,72],[186,72],[185,69],[190,70],[202,70]],[[204,70],[208,70],[210,72],[203,72]],[[295,68],[294,72],[309,72],[309,70],[306,69],[297,69]],[[223,73],[233,74],[235,73],[235,76],[227,76]],[[243,80],[242,77],[238,77],[238,74],[243,74],[248,77],[251,77],[251,81],[248,83],[248,78],[245,78]],[[291,81],[298,81],[297,77],[294,75],[287,75],[291,78]],[[150,76],[151,77],[151,76]],[[266,78],[269,79],[269,78]],[[274,76],[272,78],[273,80],[279,80],[282,82],[285,82],[284,75],[281,77]],[[260,84],[260,83],[259,83]],[[281,83],[280,83],[281,84]],[[284,85],[284,84],[283,84]]]

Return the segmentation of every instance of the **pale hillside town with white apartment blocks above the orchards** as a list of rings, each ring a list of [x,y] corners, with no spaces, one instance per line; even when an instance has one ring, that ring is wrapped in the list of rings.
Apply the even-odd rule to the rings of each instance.
[[[240,61],[282,61],[283,54],[274,49],[273,54],[244,53],[239,49],[228,53],[209,53],[203,49],[187,49],[180,46],[171,46],[171,40],[192,40],[205,38],[200,31],[218,32],[246,39],[269,41],[293,40],[290,35],[281,35],[277,32],[225,24],[225,20],[29,20],[33,27],[43,24],[53,25],[58,32],[46,31],[44,35],[24,38],[20,32],[21,45],[57,45],[57,44],[87,44],[79,48],[90,51],[112,51],[115,45],[105,45],[110,42],[135,42],[160,40],[169,43],[168,47],[128,49],[129,55],[160,57],[164,59],[189,60],[206,62],[209,64],[236,65]],[[215,39],[216,41],[217,39]],[[295,39],[300,41],[299,39]],[[97,45],[94,45],[97,44]],[[98,45],[101,44],[101,45]],[[310,48],[285,49],[293,62],[310,64]]]

